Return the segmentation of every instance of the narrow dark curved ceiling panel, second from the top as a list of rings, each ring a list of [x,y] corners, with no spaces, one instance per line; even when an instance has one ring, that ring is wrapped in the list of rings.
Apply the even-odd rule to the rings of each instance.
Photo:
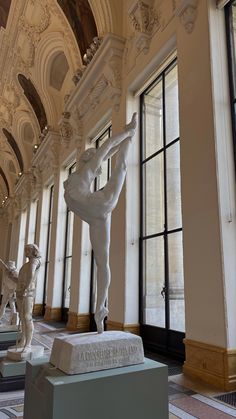
[[[43,129],[47,126],[47,117],[40,96],[30,79],[27,79],[23,74],[18,74],[18,80],[24,90],[26,98],[34,110],[40,129],[43,131]]]

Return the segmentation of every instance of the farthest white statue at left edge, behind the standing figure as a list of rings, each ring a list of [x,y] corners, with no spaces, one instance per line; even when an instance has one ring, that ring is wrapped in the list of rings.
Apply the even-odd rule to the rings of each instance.
[[[16,285],[18,279],[18,271],[16,269],[15,262],[9,260],[5,264],[2,259],[0,263],[4,267],[4,277],[2,284],[2,301],[0,306],[0,320],[5,315],[6,306],[9,303],[11,309],[10,324],[17,323],[17,313],[16,313]]]

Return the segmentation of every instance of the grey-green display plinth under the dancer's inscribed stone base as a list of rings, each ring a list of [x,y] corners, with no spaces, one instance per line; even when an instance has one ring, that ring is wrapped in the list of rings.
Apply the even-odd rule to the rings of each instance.
[[[167,366],[144,364],[69,376],[27,362],[24,419],[168,419]]]

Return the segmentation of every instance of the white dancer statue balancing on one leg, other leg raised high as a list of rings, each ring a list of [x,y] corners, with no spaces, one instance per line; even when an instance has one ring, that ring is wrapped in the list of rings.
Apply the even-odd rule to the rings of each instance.
[[[97,265],[97,302],[95,322],[98,333],[104,331],[104,318],[108,314],[106,300],[110,284],[109,249],[111,213],[114,210],[125,180],[127,156],[135,134],[137,114],[117,135],[107,139],[98,149],[89,148],[79,159],[76,172],[64,182],[68,207],[89,225],[90,241]],[[91,192],[94,179],[101,174],[102,163],[116,154],[115,168],[105,187]]]

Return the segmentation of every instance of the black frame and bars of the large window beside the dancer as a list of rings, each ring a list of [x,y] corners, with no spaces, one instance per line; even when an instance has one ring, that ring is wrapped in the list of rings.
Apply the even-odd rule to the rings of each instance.
[[[184,344],[183,339],[185,337],[184,332],[176,331],[170,329],[170,299],[169,299],[169,255],[168,255],[168,237],[170,234],[183,231],[183,223],[181,227],[168,229],[168,203],[167,203],[167,159],[166,152],[167,150],[176,144],[180,143],[180,136],[168,141],[166,143],[166,110],[165,110],[165,80],[163,80],[164,75],[168,74],[169,71],[177,65],[177,58],[173,59],[158,75],[158,77],[142,92],[140,96],[140,239],[139,239],[139,323],[140,323],[140,334],[143,338],[145,348],[151,348],[157,350],[161,353],[169,353],[180,359],[184,359]],[[163,98],[163,147],[158,148],[157,151],[151,155],[145,156],[144,149],[144,130],[145,130],[145,118],[143,113],[144,106],[144,95],[150,91],[160,80],[162,79],[162,98]],[[156,157],[160,153],[164,154],[163,163],[164,163],[164,217],[165,224],[163,231],[156,234],[145,235],[144,234],[144,211],[145,211],[145,188],[144,188],[144,165],[149,162],[152,158]],[[143,244],[146,240],[152,239],[154,237],[161,237],[164,239],[164,269],[165,269],[165,284],[163,286],[163,293],[165,295],[165,328],[157,327],[153,325],[148,325],[144,323],[143,316],[143,291],[144,291],[144,278],[143,278],[143,268],[144,268],[144,248]]]

